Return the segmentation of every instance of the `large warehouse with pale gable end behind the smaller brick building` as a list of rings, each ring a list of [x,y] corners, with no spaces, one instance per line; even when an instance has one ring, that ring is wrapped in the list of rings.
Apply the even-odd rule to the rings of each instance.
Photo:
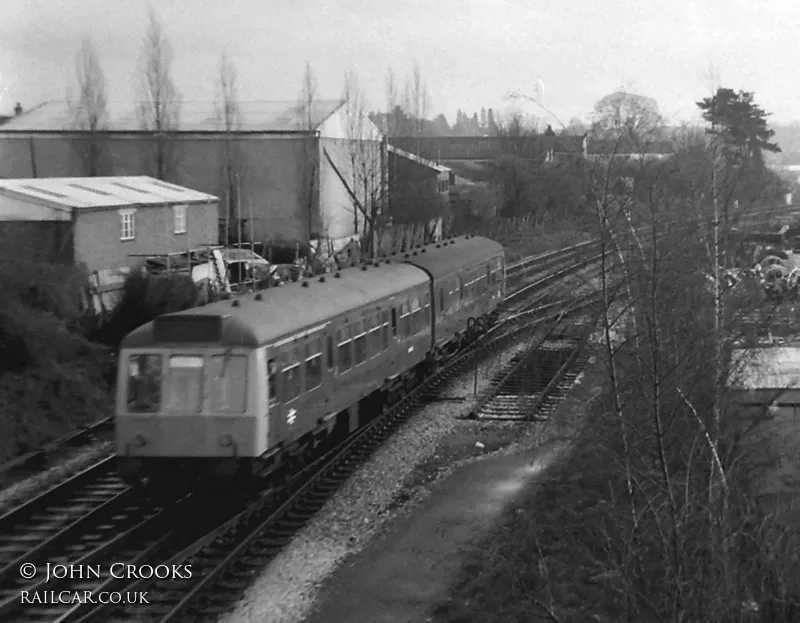
[[[232,162],[240,200],[229,216],[250,220],[252,214],[245,231],[259,242],[293,245],[327,238],[338,247],[360,233],[352,189],[345,182],[354,177],[351,155],[359,141],[376,147],[369,166],[376,178],[385,178],[382,136],[372,122],[365,120],[353,136],[341,101],[315,102],[307,114],[292,102],[247,102],[240,117],[237,129],[225,133],[211,102],[184,105],[179,130],[162,139],[174,156],[169,181],[218,196],[227,205],[226,168]],[[102,134],[74,127],[65,102],[49,102],[10,119],[0,126],[0,177],[85,175],[80,150],[88,142],[102,148],[104,174],[154,175],[158,139],[139,129],[135,115],[109,110],[109,129]]]

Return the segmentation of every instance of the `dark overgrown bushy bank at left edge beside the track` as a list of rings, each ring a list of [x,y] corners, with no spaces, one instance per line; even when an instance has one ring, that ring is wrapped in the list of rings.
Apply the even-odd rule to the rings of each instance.
[[[111,414],[108,349],[83,333],[72,267],[0,263],[0,460]]]

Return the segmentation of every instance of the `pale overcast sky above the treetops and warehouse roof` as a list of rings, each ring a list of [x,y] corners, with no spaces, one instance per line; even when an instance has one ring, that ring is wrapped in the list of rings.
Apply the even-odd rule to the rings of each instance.
[[[239,72],[240,99],[294,100],[308,60],[320,95],[337,98],[353,69],[374,109],[386,69],[422,67],[432,113],[503,110],[512,90],[533,93],[565,124],[602,96],[656,99],[673,120],[716,83],[756,93],[773,120],[800,118],[793,64],[796,0],[160,0],[184,100],[213,101],[220,50]],[[89,35],[114,107],[136,96],[145,0],[3,0],[0,111],[63,99]],[[534,104],[525,112],[544,117]],[[432,115],[431,115],[432,116]],[[557,124],[555,124],[557,125]]]

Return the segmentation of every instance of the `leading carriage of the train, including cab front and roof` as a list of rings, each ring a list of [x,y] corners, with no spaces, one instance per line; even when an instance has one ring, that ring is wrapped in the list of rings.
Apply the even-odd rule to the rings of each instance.
[[[326,426],[424,360],[429,292],[423,271],[382,262],[157,318],[122,344],[117,452],[257,457]],[[130,406],[145,373],[158,404]]]

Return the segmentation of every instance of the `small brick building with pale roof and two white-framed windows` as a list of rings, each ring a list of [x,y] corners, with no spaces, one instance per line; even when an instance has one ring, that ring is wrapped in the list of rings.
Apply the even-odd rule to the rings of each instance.
[[[0,253],[74,263],[102,283],[161,255],[216,244],[219,200],[150,177],[0,180]]]

